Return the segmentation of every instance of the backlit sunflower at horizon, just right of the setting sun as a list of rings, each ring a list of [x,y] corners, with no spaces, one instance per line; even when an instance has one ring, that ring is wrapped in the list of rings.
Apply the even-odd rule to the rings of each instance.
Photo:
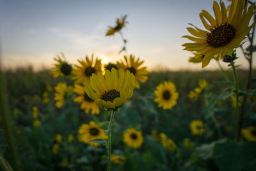
[[[144,61],[140,61],[139,57],[135,61],[135,57],[132,55],[130,55],[129,60],[127,59],[127,56],[124,56],[124,60],[125,60],[125,62],[123,62],[122,60],[120,62],[117,62],[117,66],[119,68],[122,68],[124,71],[128,70],[131,73],[133,73],[133,75],[135,76],[134,87],[139,89],[140,88],[139,81],[144,83],[148,79],[147,75],[148,75],[149,71],[147,71],[147,67],[140,68],[141,64],[143,64]]]

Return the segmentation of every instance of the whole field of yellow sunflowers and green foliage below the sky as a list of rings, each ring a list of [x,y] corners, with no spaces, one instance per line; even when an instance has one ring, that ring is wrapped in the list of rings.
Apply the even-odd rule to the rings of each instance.
[[[51,70],[1,70],[1,170],[255,170],[255,3],[213,10],[182,46],[189,62],[228,70],[148,71],[126,52],[126,15],[106,32],[124,43],[115,63],[60,53]]]

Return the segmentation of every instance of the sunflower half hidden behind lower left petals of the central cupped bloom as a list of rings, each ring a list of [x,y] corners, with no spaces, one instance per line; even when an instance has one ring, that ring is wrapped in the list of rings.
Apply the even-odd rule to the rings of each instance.
[[[79,94],[79,96],[77,96],[74,101],[76,101],[77,103],[81,103],[81,109],[84,109],[84,112],[86,114],[88,114],[91,110],[92,114],[99,114],[100,113],[100,109],[99,107],[96,105],[96,103],[94,102],[94,100],[92,100],[85,92],[84,92],[84,88],[82,85],[79,84],[75,84],[74,85],[74,92]]]

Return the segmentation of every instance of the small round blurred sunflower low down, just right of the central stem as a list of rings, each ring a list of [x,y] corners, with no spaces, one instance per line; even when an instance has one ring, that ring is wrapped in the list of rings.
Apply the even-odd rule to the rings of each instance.
[[[139,148],[143,143],[143,137],[141,131],[136,131],[134,128],[127,129],[124,132],[124,142],[129,147],[134,149]]]

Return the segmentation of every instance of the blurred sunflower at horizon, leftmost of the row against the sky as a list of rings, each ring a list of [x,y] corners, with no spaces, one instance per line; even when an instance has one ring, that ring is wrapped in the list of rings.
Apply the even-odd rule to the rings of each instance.
[[[61,58],[63,58],[64,61]],[[54,68],[52,68],[52,76],[54,78],[58,78],[63,75],[71,75],[72,65],[68,64],[67,61],[65,61],[65,56],[63,53],[61,53],[61,56],[57,55],[57,57],[54,57],[54,61],[57,62],[56,64],[54,64]]]

